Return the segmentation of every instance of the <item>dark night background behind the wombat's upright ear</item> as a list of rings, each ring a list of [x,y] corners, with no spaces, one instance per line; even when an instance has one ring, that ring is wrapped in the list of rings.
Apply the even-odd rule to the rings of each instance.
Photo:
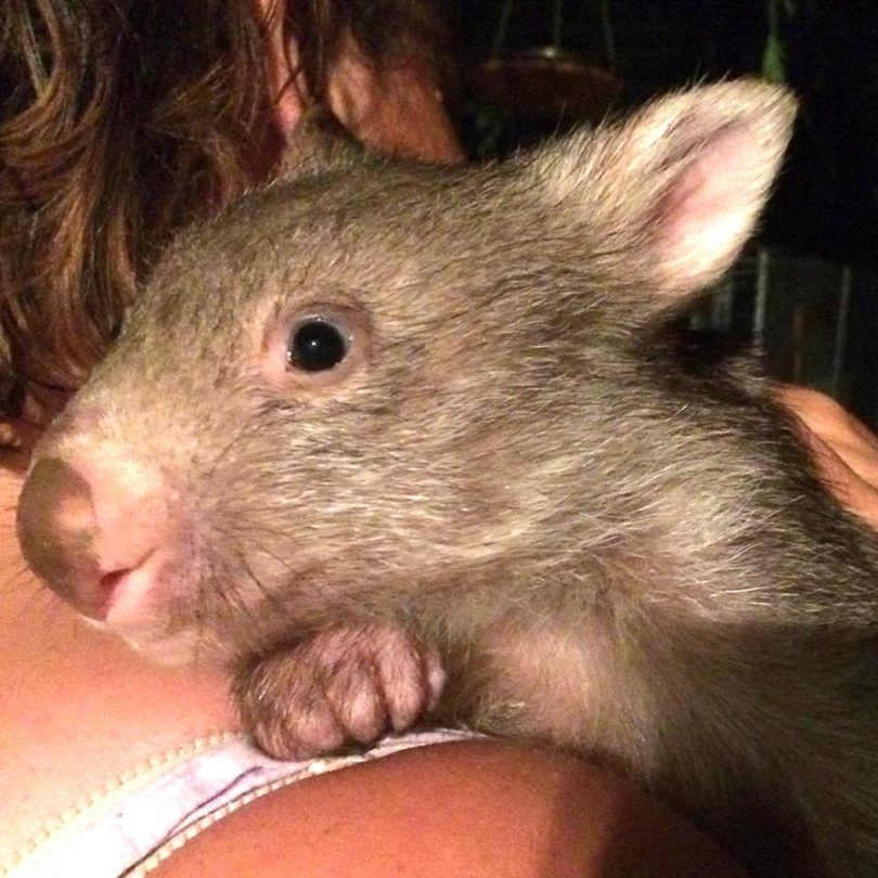
[[[446,0],[474,158],[697,81],[760,75],[801,111],[762,230],[693,326],[878,427],[878,0]]]

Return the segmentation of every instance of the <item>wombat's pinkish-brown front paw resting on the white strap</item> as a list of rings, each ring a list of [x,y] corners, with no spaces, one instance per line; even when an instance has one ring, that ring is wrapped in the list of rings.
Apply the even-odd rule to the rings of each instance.
[[[399,629],[341,627],[251,659],[235,680],[245,728],[277,759],[403,732],[431,710],[438,654]]]

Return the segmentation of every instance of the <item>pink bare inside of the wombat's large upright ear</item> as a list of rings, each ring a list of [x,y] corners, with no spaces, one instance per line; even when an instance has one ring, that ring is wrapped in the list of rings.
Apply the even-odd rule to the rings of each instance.
[[[746,124],[725,126],[676,158],[656,214],[663,289],[693,292],[732,264],[752,231],[774,158]]]

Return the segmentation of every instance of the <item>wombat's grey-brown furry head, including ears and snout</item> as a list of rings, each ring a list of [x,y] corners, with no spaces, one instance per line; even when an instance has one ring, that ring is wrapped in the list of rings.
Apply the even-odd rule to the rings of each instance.
[[[165,658],[546,569],[620,496],[644,339],[735,259],[792,115],[725,83],[495,166],[312,156],[156,269],[38,448],[28,561]]]

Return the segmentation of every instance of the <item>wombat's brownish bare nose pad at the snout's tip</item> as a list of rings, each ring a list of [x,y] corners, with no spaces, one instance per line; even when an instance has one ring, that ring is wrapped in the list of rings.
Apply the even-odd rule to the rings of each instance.
[[[38,461],[18,500],[17,528],[34,573],[79,612],[103,618],[106,601],[88,481],[64,461]]]

